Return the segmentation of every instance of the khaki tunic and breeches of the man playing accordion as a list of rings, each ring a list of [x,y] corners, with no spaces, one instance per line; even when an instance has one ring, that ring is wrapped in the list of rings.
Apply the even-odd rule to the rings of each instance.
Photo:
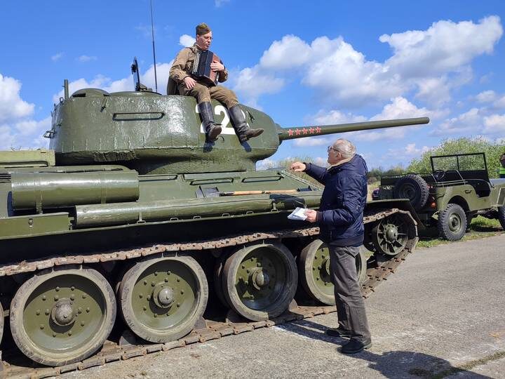
[[[179,93],[181,95],[194,96],[198,101],[210,102],[210,99],[215,99],[222,102],[227,108],[234,107],[238,104],[238,99],[230,89],[224,86],[208,86],[204,81],[198,80],[191,76],[191,69],[193,68],[196,51],[200,50],[196,44],[189,48],[183,48],[175,57],[172,68],[170,68],[170,79],[173,79],[177,84]],[[195,79],[196,84],[194,88],[187,89],[184,84],[185,77],[192,77]],[[228,71],[226,68],[220,72],[219,81],[222,83],[228,79]]]

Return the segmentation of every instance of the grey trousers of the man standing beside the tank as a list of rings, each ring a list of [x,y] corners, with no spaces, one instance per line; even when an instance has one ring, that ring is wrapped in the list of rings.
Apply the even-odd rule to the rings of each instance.
[[[328,247],[339,327],[351,331],[351,338],[355,340],[362,342],[369,340],[371,335],[365,301],[356,273],[356,255],[359,253],[359,247],[331,245]]]

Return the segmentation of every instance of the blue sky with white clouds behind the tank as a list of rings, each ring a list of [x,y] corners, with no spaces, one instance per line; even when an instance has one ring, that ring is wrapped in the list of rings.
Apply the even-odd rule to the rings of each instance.
[[[152,0],[158,89],[213,29],[210,50],[241,103],[284,127],[429,117],[406,126],[290,140],[260,161],[325,164],[336,138],[370,168],[408,163],[450,138],[505,138],[505,1]],[[154,88],[149,0],[1,1],[0,149],[48,147],[50,112],[79,88]]]

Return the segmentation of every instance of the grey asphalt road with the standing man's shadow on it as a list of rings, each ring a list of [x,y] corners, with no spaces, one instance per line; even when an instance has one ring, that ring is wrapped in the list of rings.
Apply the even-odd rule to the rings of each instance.
[[[418,249],[366,300],[373,346],[346,356],[336,314],[63,378],[505,378],[505,234]]]

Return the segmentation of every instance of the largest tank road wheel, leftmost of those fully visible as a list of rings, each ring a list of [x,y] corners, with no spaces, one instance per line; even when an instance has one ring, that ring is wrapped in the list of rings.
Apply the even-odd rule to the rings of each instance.
[[[93,269],[45,270],[18,289],[10,318],[14,341],[27,357],[62,366],[102,347],[116,319],[116,299]]]

